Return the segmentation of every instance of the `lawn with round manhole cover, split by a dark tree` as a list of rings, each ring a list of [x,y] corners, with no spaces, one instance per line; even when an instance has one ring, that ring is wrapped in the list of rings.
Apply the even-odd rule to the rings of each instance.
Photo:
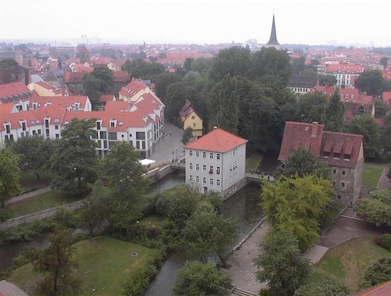
[[[122,284],[131,276],[137,276],[137,267],[145,264],[148,256],[156,251],[128,242],[100,236],[74,245],[73,258],[79,268],[75,276],[82,281],[78,295],[120,295]],[[131,253],[137,253],[131,256]],[[26,264],[11,273],[8,281],[27,293],[32,293],[40,274]]]

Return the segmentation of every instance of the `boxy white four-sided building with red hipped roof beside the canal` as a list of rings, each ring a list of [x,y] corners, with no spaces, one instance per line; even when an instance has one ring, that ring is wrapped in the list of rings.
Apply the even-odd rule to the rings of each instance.
[[[198,192],[217,192],[223,199],[246,184],[245,159],[248,141],[215,127],[185,145],[186,183]]]

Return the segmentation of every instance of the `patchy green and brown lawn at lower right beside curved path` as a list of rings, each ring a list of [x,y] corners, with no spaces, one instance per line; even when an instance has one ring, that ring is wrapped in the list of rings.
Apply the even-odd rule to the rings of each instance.
[[[350,293],[358,291],[366,270],[379,258],[391,252],[376,245],[373,237],[352,238],[329,249],[312,265],[312,280],[336,280],[348,286]]]

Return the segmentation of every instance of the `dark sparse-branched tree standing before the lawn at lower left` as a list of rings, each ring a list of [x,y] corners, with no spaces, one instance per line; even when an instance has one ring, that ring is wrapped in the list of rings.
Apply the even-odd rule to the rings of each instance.
[[[70,231],[56,228],[49,234],[50,245],[44,250],[30,247],[27,256],[33,263],[33,270],[43,273],[43,279],[36,288],[38,295],[75,295],[80,282],[72,275],[76,264],[71,261],[74,248],[71,246]]]

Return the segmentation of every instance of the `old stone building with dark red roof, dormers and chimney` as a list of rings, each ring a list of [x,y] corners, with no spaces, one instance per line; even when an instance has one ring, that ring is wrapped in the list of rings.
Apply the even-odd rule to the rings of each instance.
[[[348,205],[360,196],[364,149],[363,136],[325,131],[317,122],[285,122],[278,160],[284,162],[300,146],[312,151],[330,169],[337,202]]]

